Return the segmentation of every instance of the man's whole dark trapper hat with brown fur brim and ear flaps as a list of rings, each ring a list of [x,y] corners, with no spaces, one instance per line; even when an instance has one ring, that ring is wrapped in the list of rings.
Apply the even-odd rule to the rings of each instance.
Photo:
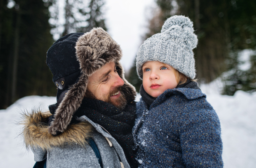
[[[49,126],[49,133],[53,135],[65,131],[73,114],[79,108],[84,98],[88,77],[102,68],[106,63],[112,61],[116,63],[116,70],[118,70],[119,76],[125,82],[121,87],[121,91],[125,95],[126,100],[128,102],[133,101],[136,96],[134,86],[125,80],[122,65],[119,63],[122,57],[121,48],[105,30],[102,28],[93,28],[87,33],[74,33],[67,36],[67,38],[64,38],[66,42],[63,42],[64,40],[61,39],[60,41],[56,41],[59,44],[53,45],[55,49],[47,52],[47,65],[52,71],[54,83],[57,83],[56,81],[60,79],[63,81],[65,77],[74,73],[79,74],[77,77],[76,74],[73,75],[74,77],[70,77],[73,81],[72,85],[64,86],[67,88],[64,92],[66,95],[60,105],[56,107],[55,119]],[[76,41],[75,45],[73,44],[74,40]],[[68,52],[70,54],[65,54],[66,50],[69,50]],[[72,54],[73,50],[76,51],[75,54]],[[53,58],[55,61],[51,61]],[[61,63],[59,60],[61,60]],[[77,68],[77,64],[79,65],[79,69]],[[58,90],[60,90],[59,87]],[[65,89],[63,88],[63,90]]]

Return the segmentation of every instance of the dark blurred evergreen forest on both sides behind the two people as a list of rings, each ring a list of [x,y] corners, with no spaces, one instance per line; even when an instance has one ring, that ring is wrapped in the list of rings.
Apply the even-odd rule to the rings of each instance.
[[[193,21],[198,36],[194,53],[199,82],[221,77],[227,95],[256,91],[254,0],[155,0],[155,4],[142,40],[159,33],[168,17],[185,15]],[[55,96],[45,63],[47,50],[66,34],[93,27],[107,30],[104,5],[103,0],[0,0],[0,109],[29,95]],[[245,49],[253,53],[246,70],[240,68]],[[126,79],[139,92],[142,81],[135,60]]]

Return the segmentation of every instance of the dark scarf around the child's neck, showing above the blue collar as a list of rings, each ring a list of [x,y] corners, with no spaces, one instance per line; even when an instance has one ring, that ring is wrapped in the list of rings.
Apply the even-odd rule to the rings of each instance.
[[[192,80],[187,80],[186,83],[181,85],[177,85],[176,88],[193,88],[193,89],[200,89],[196,82]],[[156,100],[156,97],[152,97],[144,90],[143,85],[140,86],[140,95],[143,98],[144,102],[147,103],[148,108],[149,106]]]

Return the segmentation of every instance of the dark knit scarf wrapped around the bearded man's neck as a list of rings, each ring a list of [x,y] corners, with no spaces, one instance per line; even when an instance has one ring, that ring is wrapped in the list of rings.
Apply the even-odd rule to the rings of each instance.
[[[129,165],[132,168],[137,168],[135,151],[132,150],[134,139],[131,134],[136,118],[135,103],[126,105],[121,111],[110,103],[84,98],[74,115],[77,117],[85,115],[105,128],[123,148]]]

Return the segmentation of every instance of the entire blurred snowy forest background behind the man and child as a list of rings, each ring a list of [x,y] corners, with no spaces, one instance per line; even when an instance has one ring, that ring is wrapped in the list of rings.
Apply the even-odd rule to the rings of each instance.
[[[55,103],[46,53],[58,38],[104,28],[121,46],[125,77],[139,92],[137,50],[175,14],[194,23],[198,84],[221,120],[225,168],[255,168],[255,0],[0,0],[0,167],[13,158],[20,158],[15,166],[34,164],[14,140],[20,128],[7,125],[21,107]]]

